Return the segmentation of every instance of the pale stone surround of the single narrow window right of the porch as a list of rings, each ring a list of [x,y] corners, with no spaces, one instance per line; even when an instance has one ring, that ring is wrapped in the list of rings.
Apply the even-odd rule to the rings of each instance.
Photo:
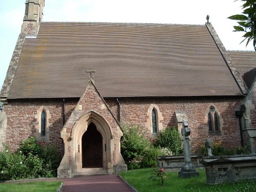
[[[159,107],[156,104],[151,104],[150,108],[147,110],[147,121],[145,123],[145,127],[148,131],[150,131],[150,137],[155,137],[156,133],[153,133],[153,125],[152,125],[152,110],[155,109],[157,116],[157,133],[163,129],[163,121],[162,113],[159,110]]]

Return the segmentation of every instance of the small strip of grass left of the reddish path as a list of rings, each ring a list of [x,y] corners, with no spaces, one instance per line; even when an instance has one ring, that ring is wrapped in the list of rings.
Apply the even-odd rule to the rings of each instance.
[[[1,192],[56,192],[61,181],[0,183]]]

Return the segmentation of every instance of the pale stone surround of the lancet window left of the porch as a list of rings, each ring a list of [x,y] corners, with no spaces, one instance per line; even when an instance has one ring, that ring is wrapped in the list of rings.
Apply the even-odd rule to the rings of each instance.
[[[46,113],[46,134],[45,136],[41,136],[41,113],[42,111],[45,111]],[[34,122],[34,127],[36,132],[34,133],[34,136],[37,141],[39,142],[48,142],[49,136],[50,136],[50,127],[52,127],[52,124],[49,123],[49,119],[51,119],[50,111],[47,109],[46,106],[41,105],[40,108],[37,110],[35,115],[36,121]]]

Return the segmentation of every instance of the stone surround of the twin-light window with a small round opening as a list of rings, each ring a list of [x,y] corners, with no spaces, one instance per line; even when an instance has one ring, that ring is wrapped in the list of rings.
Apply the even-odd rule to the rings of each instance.
[[[214,113],[212,113],[210,111],[210,106],[214,106],[215,107],[215,112],[214,113],[217,113],[218,115],[218,123],[219,123],[219,131],[215,131],[215,130],[212,130],[212,132],[209,131],[209,126],[208,126],[208,113],[211,113],[211,116],[214,116]],[[214,122],[214,118],[212,118],[212,121]],[[223,130],[222,130],[222,127],[223,127],[223,119],[220,115],[220,112],[217,108],[217,106],[215,106],[214,104],[209,104],[207,109],[206,109],[206,113],[205,113],[205,120],[204,120],[204,124],[205,124],[205,127],[204,127],[204,131],[205,131],[205,136],[213,136],[213,135],[224,135],[223,133]],[[214,128],[214,127],[213,127]]]

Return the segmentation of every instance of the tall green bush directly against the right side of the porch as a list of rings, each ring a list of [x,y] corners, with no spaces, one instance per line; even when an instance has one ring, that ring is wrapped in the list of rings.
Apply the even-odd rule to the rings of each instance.
[[[129,169],[155,167],[157,156],[161,155],[159,147],[154,147],[146,139],[145,132],[139,125],[123,124],[123,138],[121,140],[121,154]]]

